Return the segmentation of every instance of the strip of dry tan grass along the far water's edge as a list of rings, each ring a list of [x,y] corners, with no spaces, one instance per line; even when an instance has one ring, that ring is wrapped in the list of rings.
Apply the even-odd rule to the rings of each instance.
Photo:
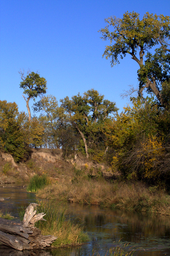
[[[170,196],[164,191],[147,188],[141,182],[109,182],[86,174],[65,177],[37,191],[40,198],[59,199],[76,203],[101,205],[120,210],[136,210],[170,216]],[[70,200],[71,199],[71,200]]]

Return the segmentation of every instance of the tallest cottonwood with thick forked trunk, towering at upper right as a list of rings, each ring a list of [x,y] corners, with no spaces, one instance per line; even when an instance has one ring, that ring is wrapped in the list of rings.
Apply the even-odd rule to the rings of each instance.
[[[111,58],[113,66],[119,63],[119,57],[131,55],[140,66],[139,95],[143,97],[146,89],[166,107],[170,96],[170,17],[147,12],[140,20],[139,13],[125,12],[122,19],[111,16],[105,22],[107,26],[99,32],[103,40],[110,40],[110,45],[103,57]]]

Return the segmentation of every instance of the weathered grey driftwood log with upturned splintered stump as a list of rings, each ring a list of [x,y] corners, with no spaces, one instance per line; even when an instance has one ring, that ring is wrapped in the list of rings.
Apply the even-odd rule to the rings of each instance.
[[[25,212],[22,222],[0,218],[1,244],[10,246],[16,250],[43,249],[50,246],[57,239],[54,236],[43,236],[41,230],[34,227],[35,222],[44,220],[46,213],[37,213],[34,210],[38,204],[31,203]]]

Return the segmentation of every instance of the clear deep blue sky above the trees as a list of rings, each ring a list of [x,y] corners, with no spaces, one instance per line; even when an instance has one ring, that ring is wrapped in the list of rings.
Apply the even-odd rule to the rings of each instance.
[[[138,85],[138,64],[126,57],[111,68],[98,30],[105,18],[122,18],[126,11],[169,16],[170,0],[1,0],[0,99],[27,112],[21,68],[45,77],[47,94],[58,102],[94,88],[122,110],[127,100],[120,93]]]

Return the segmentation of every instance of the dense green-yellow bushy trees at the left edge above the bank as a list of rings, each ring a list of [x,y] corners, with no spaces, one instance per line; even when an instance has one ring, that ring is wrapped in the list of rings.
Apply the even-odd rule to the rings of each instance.
[[[38,118],[28,121],[15,102],[0,101],[0,127],[0,149],[11,154],[16,162],[28,158],[28,145],[42,144],[44,128]]]

